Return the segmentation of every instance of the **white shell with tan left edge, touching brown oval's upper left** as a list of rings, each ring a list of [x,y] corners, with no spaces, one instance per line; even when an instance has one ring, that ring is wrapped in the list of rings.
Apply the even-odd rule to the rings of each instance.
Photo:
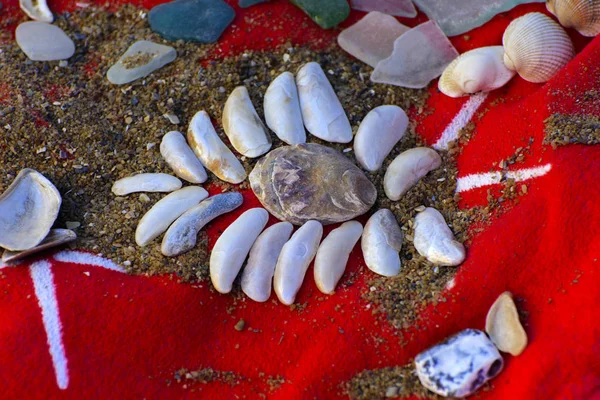
[[[236,87],[225,102],[223,129],[233,147],[246,157],[261,156],[271,148],[271,138],[244,86]]]

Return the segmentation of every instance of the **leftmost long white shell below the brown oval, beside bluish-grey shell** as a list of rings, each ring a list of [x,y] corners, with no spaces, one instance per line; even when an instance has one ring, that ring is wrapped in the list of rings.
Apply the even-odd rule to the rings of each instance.
[[[252,208],[240,215],[219,237],[210,254],[210,279],[217,291],[231,291],[235,277],[268,219],[267,210]]]

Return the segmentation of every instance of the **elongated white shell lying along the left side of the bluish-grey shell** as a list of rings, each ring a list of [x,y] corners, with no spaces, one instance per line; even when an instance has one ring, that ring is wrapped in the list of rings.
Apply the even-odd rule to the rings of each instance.
[[[179,189],[159,200],[140,220],[135,230],[135,242],[146,246],[159,237],[184,212],[208,197],[198,186]]]

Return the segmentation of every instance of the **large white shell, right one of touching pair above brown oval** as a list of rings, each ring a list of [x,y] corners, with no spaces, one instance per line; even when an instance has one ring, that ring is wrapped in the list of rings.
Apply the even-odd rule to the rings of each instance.
[[[296,84],[306,129],[328,142],[350,142],[350,121],[321,66],[305,64],[296,74]]]

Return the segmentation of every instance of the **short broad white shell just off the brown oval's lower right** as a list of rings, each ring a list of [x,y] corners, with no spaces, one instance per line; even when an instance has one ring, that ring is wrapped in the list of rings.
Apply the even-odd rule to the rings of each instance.
[[[365,264],[376,274],[396,276],[400,272],[402,231],[387,208],[369,218],[363,231],[361,248]]]

